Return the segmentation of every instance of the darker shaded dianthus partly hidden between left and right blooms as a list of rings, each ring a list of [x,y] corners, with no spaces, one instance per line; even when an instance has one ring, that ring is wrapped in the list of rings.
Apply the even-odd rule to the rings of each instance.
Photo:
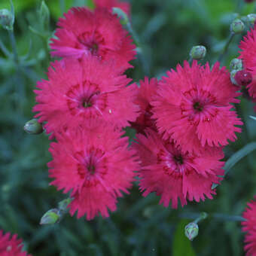
[[[139,84],[135,103],[140,107],[140,114],[136,121],[132,123],[132,126],[138,133],[143,133],[146,127],[157,130],[154,120],[151,118],[152,106],[150,104],[157,93],[157,79],[151,78],[151,80],[149,80],[145,77],[144,81],[140,81]]]

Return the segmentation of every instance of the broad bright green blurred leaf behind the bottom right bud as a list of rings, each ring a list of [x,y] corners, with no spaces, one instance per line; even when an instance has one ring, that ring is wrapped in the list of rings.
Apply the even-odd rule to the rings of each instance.
[[[176,227],[172,246],[173,256],[196,256],[191,242],[184,235],[184,227],[188,222],[187,220],[181,220]]]

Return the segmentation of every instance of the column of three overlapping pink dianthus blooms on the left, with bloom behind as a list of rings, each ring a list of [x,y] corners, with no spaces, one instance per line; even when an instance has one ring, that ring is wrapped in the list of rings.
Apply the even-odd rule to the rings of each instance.
[[[35,90],[35,117],[56,139],[49,149],[51,184],[71,192],[70,213],[87,220],[114,211],[139,169],[136,151],[122,137],[139,115],[137,86],[123,75],[136,51],[111,14],[116,3],[97,1],[94,11],[72,8],[59,19],[50,47],[62,59],[51,63],[48,79]]]

